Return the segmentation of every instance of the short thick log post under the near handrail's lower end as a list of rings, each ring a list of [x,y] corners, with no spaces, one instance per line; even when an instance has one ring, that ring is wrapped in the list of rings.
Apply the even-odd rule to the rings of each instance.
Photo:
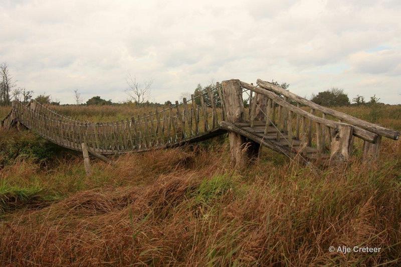
[[[352,152],[353,128],[351,125],[338,125],[332,130],[330,162],[348,161]]]

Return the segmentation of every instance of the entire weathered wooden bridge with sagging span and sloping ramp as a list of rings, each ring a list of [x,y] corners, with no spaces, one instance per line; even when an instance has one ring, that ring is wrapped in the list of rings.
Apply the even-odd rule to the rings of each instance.
[[[250,99],[244,106],[243,95]],[[244,166],[260,145],[302,160],[347,160],[354,138],[363,140],[365,159],[376,159],[382,136],[399,132],[320,106],[270,82],[257,86],[225,80],[191,99],[119,121],[84,122],[31,101],[13,101],[3,128],[27,127],[58,145],[98,157],[160,149],[229,132],[233,164]]]

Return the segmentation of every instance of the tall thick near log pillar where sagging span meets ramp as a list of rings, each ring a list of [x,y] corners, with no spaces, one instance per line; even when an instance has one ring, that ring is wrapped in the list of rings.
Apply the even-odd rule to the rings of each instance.
[[[230,123],[244,122],[244,101],[239,79],[224,80],[223,97],[226,106],[226,120]],[[231,163],[244,169],[250,159],[259,153],[260,145],[236,132],[229,132]]]

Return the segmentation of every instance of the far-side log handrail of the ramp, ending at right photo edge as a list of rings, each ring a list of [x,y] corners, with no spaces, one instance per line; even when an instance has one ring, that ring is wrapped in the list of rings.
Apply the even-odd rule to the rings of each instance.
[[[365,129],[367,131],[376,133],[376,134],[381,135],[381,136],[385,136],[385,137],[393,139],[393,140],[398,140],[398,138],[399,138],[399,131],[392,130],[392,129],[387,129],[387,128],[384,128],[384,127],[379,126],[377,124],[370,123],[370,122],[367,122],[365,120],[362,120],[360,118],[357,118],[357,117],[354,117],[354,116],[350,116],[350,115],[345,114],[343,112],[336,111],[336,110],[333,110],[333,109],[325,107],[325,106],[321,106],[321,105],[316,104],[316,103],[314,103],[314,102],[312,102],[312,101],[310,101],[310,100],[308,100],[308,99],[306,99],[304,97],[298,96],[295,93],[287,91],[287,90],[281,88],[280,86],[274,85],[274,84],[272,84],[272,83],[270,83],[268,81],[264,81],[264,80],[258,79],[257,80],[257,84],[259,86],[267,89],[267,90],[271,90],[273,92],[280,93],[280,94],[282,94],[284,96],[287,96],[287,97],[291,98],[294,101],[297,101],[297,102],[302,103],[304,105],[310,106],[311,108],[313,108],[315,110],[319,110],[319,111],[321,111],[323,113],[329,114],[329,115],[334,116],[336,118],[342,119],[343,121],[346,121],[346,122],[348,122],[348,123],[350,123],[352,125],[358,126],[358,127],[362,128],[362,129]]]

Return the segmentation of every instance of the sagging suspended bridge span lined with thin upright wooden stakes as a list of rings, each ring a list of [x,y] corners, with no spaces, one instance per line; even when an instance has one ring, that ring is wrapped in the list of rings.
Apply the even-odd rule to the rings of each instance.
[[[217,133],[224,119],[219,83],[205,92],[183,98],[168,107],[142,116],[107,122],[79,121],[63,116],[45,105],[14,101],[19,120],[45,138],[62,146],[81,150],[81,144],[100,153],[147,150]]]

